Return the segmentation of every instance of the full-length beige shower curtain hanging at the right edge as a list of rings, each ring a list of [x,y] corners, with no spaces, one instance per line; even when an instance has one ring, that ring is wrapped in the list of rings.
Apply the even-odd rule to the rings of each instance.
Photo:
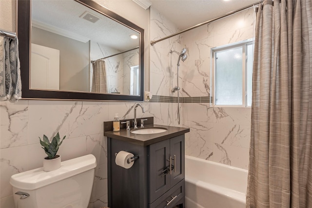
[[[246,204],[312,208],[312,0],[257,11]]]

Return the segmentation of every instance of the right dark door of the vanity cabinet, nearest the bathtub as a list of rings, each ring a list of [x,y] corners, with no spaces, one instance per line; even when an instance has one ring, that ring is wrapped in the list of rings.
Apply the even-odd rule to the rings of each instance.
[[[184,179],[185,175],[185,145],[184,134],[170,139],[170,156],[174,169],[170,175],[170,187],[174,187],[178,182]]]

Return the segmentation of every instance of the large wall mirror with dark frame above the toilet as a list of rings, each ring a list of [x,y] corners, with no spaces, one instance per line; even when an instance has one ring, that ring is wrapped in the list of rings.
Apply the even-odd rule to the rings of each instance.
[[[143,101],[144,29],[92,0],[17,3],[22,98]]]

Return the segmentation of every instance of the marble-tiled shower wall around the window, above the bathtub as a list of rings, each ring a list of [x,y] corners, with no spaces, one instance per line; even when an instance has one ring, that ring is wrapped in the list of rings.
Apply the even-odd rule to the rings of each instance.
[[[182,68],[183,92],[210,96],[211,48],[254,37],[253,8],[216,20],[183,34],[189,58]],[[186,154],[248,169],[251,108],[212,107],[184,103]]]

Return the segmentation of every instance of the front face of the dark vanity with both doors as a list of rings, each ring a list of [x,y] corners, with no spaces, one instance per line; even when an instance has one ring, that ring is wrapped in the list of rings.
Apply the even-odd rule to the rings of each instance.
[[[156,199],[179,182],[184,182],[184,135],[150,145],[148,162],[150,208],[163,208],[164,202],[157,202]],[[175,189],[179,191],[172,190],[173,193],[165,194],[166,204],[184,197],[184,183]]]

